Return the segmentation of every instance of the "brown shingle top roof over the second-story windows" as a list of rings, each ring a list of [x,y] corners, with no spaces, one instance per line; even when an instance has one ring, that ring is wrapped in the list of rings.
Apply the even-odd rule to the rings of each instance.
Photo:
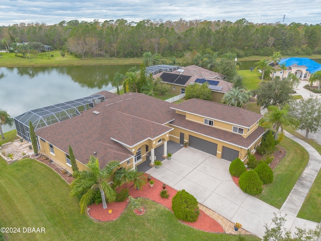
[[[172,108],[246,128],[250,128],[263,117],[261,114],[240,107],[195,98]]]

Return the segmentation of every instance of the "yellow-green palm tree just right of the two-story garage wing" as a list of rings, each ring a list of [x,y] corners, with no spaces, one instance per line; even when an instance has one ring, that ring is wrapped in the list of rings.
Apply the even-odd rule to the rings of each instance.
[[[277,134],[279,128],[281,128],[281,133],[283,134],[283,126],[296,129],[299,122],[296,118],[288,114],[288,105],[282,108],[270,105],[267,107],[268,112],[266,112],[260,121],[262,127],[271,128],[275,127],[274,140],[277,140]]]

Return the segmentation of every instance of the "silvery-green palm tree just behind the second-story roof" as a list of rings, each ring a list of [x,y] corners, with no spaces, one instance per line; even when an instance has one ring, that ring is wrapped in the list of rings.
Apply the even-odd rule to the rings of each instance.
[[[223,96],[222,103],[243,107],[244,104],[249,102],[249,99],[250,94],[248,92],[244,92],[244,90],[240,88],[232,88],[231,91]]]

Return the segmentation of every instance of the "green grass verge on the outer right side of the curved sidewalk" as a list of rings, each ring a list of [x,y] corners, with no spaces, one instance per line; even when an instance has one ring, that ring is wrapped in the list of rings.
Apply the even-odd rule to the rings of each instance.
[[[293,136],[305,141],[310,144],[320,155],[321,155],[321,145],[314,142],[311,139],[304,139],[304,137],[297,132],[286,128],[287,132],[291,133]],[[317,174],[310,191],[308,192],[303,205],[297,214],[297,217],[311,220],[314,222],[320,222],[321,220],[321,171]]]

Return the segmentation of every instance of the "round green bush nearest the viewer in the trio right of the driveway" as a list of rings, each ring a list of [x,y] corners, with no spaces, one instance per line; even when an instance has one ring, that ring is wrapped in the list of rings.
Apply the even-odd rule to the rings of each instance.
[[[263,182],[254,170],[244,172],[239,179],[239,185],[243,192],[257,195],[262,192]]]

